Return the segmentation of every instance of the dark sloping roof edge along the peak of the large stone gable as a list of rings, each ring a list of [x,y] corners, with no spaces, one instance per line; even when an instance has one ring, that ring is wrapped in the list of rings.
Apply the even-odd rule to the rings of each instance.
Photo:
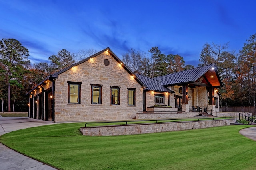
[[[133,72],[115,55],[115,54],[114,54],[114,53],[113,53],[113,51],[111,51],[110,48],[107,47],[106,49],[103,49],[102,51],[99,51],[98,53],[95,53],[94,55],[91,55],[90,57],[87,57],[86,59],[83,59],[83,60],[81,60],[81,61],[78,61],[77,63],[74,63],[74,64],[72,64],[71,66],[68,66],[68,67],[66,67],[66,68],[64,68],[64,69],[62,69],[62,70],[60,70],[60,71],[58,71],[58,72],[56,72],[56,73],[54,73],[54,74],[52,74],[52,75],[46,77],[42,82],[40,82],[40,83],[37,84],[34,88],[32,88],[29,92],[27,92],[27,93],[26,93],[26,96],[27,96],[28,94],[30,94],[33,90],[35,90],[36,88],[38,88],[38,86],[44,84],[47,80],[51,80],[52,78],[58,78],[58,75],[59,75],[59,74],[65,72],[65,71],[67,71],[67,70],[69,70],[70,68],[72,68],[72,67],[74,67],[74,66],[77,66],[77,65],[79,65],[79,64],[81,64],[81,63],[84,63],[85,61],[88,61],[89,59],[91,59],[91,58],[93,58],[93,57],[96,57],[97,55],[100,55],[101,53],[104,53],[104,51],[108,51],[108,53],[109,53],[118,63],[122,64],[123,68],[124,68],[129,74],[131,74],[131,75],[134,77],[134,79],[135,79],[142,87],[146,87],[145,84],[143,84],[143,82],[142,82],[140,79],[138,79],[138,78],[136,77],[136,75],[135,75],[135,74],[134,74],[134,73],[133,73]]]

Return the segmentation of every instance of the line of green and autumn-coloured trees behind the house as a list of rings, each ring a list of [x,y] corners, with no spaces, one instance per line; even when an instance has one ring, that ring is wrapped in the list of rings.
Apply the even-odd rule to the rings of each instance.
[[[48,58],[48,62],[28,60],[29,51],[16,39],[0,40],[0,100],[1,111],[26,111],[26,92],[50,74],[98,52],[95,49],[70,53],[66,49]],[[122,55],[130,70],[150,78],[194,68],[185,65],[182,56],[164,54],[158,47],[148,51],[131,48]],[[256,105],[256,34],[251,35],[239,52],[228,51],[228,43],[205,43],[199,54],[198,66],[216,63],[224,83],[219,88],[221,106]],[[12,107],[11,107],[12,106]]]

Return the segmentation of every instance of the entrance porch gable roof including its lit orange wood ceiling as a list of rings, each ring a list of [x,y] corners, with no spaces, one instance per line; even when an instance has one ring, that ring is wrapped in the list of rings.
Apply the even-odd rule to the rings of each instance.
[[[162,81],[162,86],[173,86],[184,83],[190,83],[195,85],[204,84],[205,86],[207,86],[208,83],[211,84],[211,86],[214,88],[223,87],[223,83],[220,78],[216,64],[208,64],[189,70],[174,72],[171,74],[166,74],[164,76],[155,77],[154,79]],[[207,83],[202,83],[198,81],[199,79],[201,81],[204,79]]]

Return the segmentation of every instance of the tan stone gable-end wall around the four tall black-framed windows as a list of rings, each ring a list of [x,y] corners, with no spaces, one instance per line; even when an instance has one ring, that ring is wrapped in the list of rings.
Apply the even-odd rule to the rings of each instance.
[[[81,104],[68,103],[67,81],[82,82]],[[102,85],[102,104],[91,104],[90,84]],[[120,105],[111,105],[110,86],[120,87]],[[128,106],[127,88],[136,88],[135,106]],[[59,74],[55,90],[56,122],[127,120],[143,110],[142,86],[107,51]]]

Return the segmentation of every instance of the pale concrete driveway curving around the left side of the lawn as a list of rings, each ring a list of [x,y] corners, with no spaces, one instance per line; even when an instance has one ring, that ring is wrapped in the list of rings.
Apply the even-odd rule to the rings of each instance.
[[[28,117],[0,117],[0,136],[19,129],[53,124],[51,121],[29,119]],[[22,145],[22,144],[21,144]],[[0,143],[1,170],[56,170],[42,162],[24,156]]]

